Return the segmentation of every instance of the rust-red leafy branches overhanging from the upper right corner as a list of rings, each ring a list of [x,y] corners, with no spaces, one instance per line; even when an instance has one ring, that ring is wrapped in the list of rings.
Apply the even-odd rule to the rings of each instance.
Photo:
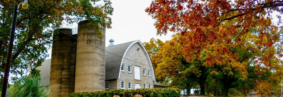
[[[255,43],[258,48],[271,47],[278,42],[278,36],[274,36],[272,31],[277,26],[271,22],[270,14],[282,12],[279,6],[283,6],[282,1],[155,0],[145,11],[156,20],[158,34],[173,31],[185,36],[183,41],[189,42],[183,44],[184,54],[188,57],[187,60],[190,60],[190,52],[199,52],[202,47],[213,43],[229,44],[225,45],[227,47],[231,47],[233,43],[237,46],[242,45],[241,42],[246,39],[239,37],[245,37],[255,27],[258,29],[254,34],[257,38],[267,38]],[[281,24],[280,21],[278,23]],[[229,51],[227,48],[221,51],[225,51],[223,54],[230,53],[226,52]],[[278,56],[282,57],[282,54]],[[260,60],[268,64],[266,60]]]

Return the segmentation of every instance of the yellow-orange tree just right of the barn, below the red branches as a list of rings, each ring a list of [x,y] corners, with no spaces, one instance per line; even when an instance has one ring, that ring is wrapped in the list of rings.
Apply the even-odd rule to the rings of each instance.
[[[208,75],[207,68],[198,59],[186,62],[180,53],[182,46],[179,38],[179,35],[173,35],[173,39],[166,41],[160,47],[157,54],[159,63],[155,69],[156,78],[164,79],[165,82],[170,82],[169,85],[188,91],[198,84],[201,88],[201,95],[205,95],[204,84]]]

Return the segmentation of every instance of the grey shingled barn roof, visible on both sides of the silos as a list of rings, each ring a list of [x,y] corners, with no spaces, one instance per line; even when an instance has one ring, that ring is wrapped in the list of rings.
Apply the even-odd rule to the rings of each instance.
[[[124,56],[124,53],[133,42],[135,41],[105,47],[105,50],[107,51],[105,52],[105,80],[118,79],[122,62],[121,57]],[[108,52],[111,52],[112,54]],[[37,67],[37,69],[41,71],[40,74],[43,86],[49,85],[50,64],[51,59],[47,59],[41,66]]]

